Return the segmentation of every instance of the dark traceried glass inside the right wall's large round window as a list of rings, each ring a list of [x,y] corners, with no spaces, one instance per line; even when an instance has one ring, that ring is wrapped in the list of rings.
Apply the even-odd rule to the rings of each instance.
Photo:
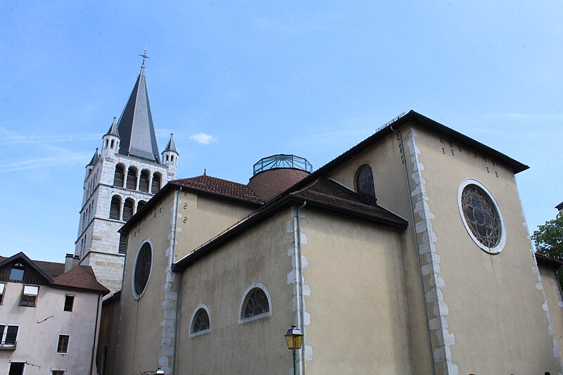
[[[488,194],[474,184],[465,186],[462,191],[462,210],[477,241],[487,248],[497,246],[502,234],[500,217]]]

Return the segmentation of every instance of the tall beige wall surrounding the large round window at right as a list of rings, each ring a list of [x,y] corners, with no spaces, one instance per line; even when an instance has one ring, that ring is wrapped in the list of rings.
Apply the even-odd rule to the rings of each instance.
[[[409,132],[409,129],[404,129]],[[409,133],[410,136],[413,133]],[[514,174],[498,160],[415,127],[420,170],[436,234],[443,311],[453,333],[451,360],[460,374],[557,374],[553,339],[536,288],[531,243]],[[494,163],[493,163],[494,162]],[[504,250],[491,255],[470,238],[458,209],[462,181],[487,187],[505,219]],[[446,316],[447,315],[447,316]]]

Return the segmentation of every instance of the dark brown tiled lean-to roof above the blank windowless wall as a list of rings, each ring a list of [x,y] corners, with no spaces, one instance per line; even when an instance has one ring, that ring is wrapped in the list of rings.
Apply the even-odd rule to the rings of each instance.
[[[316,179],[299,191],[292,192],[291,195],[305,198],[308,202],[324,203],[336,210],[341,209],[368,215],[397,227],[407,227],[408,225],[407,220],[403,219],[403,217],[386,210],[380,205],[361,203],[358,193],[324,177]]]

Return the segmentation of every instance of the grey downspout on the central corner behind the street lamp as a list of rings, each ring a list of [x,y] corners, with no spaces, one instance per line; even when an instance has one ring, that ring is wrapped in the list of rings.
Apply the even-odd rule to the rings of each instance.
[[[303,202],[296,210],[296,215],[293,217],[293,238],[295,239],[295,286],[297,292],[297,326],[301,329],[303,333],[303,342],[301,343],[301,348],[299,349],[299,375],[305,375],[305,344],[307,343],[305,334],[305,324],[304,321],[304,300],[303,300],[303,277],[302,277],[302,266],[301,266],[301,220],[299,219],[299,210],[305,208],[307,201]],[[297,375],[297,374],[295,374]]]

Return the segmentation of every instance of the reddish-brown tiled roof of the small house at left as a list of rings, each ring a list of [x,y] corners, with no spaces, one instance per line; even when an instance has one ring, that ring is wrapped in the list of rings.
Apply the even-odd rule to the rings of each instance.
[[[31,260],[25,253],[20,252],[9,258],[0,256],[0,267],[16,259],[22,259],[32,266],[46,281],[49,281],[49,286],[109,293],[108,289],[96,280],[94,270],[90,266],[77,266],[65,272],[64,263]]]

